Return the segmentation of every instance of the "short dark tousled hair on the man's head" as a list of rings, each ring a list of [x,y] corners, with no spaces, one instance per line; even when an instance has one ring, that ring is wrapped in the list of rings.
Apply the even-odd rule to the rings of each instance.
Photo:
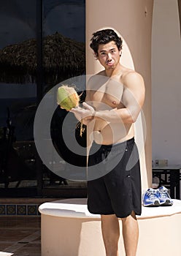
[[[93,33],[93,37],[90,39],[90,48],[94,53],[98,54],[99,45],[105,45],[108,42],[114,41],[118,47],[118,50],[122,49],[123,40],[118,37],[113,29],[102,29]]]

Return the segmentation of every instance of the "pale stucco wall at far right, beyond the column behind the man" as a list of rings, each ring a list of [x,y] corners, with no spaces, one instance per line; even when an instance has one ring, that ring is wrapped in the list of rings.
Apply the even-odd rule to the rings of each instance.
[[[181,163],[181,42],[177,0],[154,0],[153,160]]]

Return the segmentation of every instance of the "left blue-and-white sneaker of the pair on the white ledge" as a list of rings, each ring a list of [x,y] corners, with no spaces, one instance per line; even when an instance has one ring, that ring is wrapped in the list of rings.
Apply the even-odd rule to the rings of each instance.
[[[157,189],[147,189],[143,194],[143,206],[160,206],[160,200],[157,195]]]

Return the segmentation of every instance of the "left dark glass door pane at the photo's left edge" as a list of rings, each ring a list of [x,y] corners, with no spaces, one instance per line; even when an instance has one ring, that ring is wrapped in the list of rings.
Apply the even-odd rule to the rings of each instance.
[[[36,83],[23,69],[31,62],[24,42],[36,38],[36,0],[4,1],[0,19],[0,187],[35,187]]]

